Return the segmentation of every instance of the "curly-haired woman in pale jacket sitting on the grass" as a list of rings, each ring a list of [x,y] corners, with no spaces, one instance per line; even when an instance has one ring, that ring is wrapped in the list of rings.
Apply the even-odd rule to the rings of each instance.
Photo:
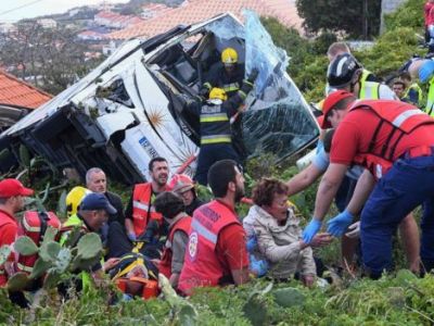
[[[318,234],[311,243],[302,239],[298,220],[288,203],[288,186],[280,180],[263,178],[253,189],[248,220],[257,237],[259,252],[270,264],[268,276],[285,280],[298,273],[306,286],[316,277],[312,249],[329,244],[329,234]]]

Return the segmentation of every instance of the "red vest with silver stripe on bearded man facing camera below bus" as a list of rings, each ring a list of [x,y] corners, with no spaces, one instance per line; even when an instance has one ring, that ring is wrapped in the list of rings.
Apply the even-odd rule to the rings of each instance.
[[[138,184],[132,192],[132,225],[136,236],[140,236],[146,229],[151,220],[163,222],[163,215],[155,212],[152,205],[152,184]]]

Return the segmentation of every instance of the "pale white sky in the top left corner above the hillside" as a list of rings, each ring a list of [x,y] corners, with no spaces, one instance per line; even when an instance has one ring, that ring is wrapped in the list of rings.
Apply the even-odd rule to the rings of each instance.
[[[11,23],[22,18],[63,13],[75,7],[101,2],[126,3],[128,0],[1,0],[0,22]]]

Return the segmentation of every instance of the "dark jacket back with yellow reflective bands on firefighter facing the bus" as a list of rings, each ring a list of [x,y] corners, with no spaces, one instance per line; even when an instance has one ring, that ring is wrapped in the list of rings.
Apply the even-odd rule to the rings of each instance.
[[[232,141],[230,120],[222,104],[202,105],[200,123],[201,145],[230,143]]]

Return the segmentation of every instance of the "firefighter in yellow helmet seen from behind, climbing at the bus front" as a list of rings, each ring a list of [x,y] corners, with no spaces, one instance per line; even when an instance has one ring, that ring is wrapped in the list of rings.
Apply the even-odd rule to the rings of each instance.
[[[240,162],[232,146],[230,118],[241,111],[241,104],[252,90],[258,75],[253,70],[237,93],[228,99],[225,90],[213,88],[209,99],[202,104],[197,101],[186,101],[184,109],[192,115],[199,116],[201,124],[201,151],[197,158],[195,180],[206,186],[209,166],[215,162],[230,159]]]

